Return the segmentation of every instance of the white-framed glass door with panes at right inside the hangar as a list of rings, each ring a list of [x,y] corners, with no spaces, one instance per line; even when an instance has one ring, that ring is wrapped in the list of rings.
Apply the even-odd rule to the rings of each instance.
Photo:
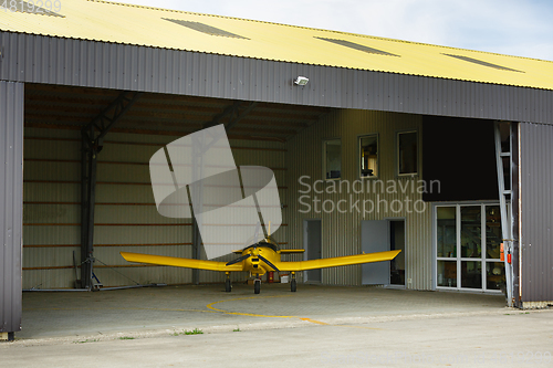
[[[436,206],[435,229],[438,288],[504,287],[499,204]]]

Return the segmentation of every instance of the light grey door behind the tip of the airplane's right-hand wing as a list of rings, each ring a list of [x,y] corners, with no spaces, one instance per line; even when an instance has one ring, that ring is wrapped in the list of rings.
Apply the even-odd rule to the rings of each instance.
[[[361,221],[361,250],[365,253],[389,251],[388,221]],[[389,261],[362,265],[363,285],[388,285]]]

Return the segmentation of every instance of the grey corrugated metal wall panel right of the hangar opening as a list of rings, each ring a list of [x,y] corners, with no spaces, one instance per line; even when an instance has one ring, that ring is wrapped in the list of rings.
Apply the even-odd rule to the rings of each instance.
[[[553,127],[520,124],[522,302],[553,302]]]

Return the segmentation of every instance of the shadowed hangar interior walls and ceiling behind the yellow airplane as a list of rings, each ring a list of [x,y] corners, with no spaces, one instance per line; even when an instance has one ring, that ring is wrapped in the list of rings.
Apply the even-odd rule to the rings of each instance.
[[[113,103],[124,95],[124,91],[25,85],[23,290],[81,287],[77,281],[87,261],[83,255],[86,240],[82,236],[87,231],[83,208],[86,211],[88,199],[83,190],[90,187],[91,176],[90,166],[82,162],[82,154],[86,151],[82,132],[98,116],[111,116],[111,109],[115,109]],[[487,287],[491,274],[488,276],[490,260],[486,253],[478,253],[483,260],[463,257],[459,276],[452,260],[434,264],[442,256],[432,249],[434,238],[441,236],[444,213],[451,208],[440,207],[437,214],[432,214],[430,206],[431,202],[472,201],[468,210],[474,210],[484,201],[487,206],[482,208],[499,213],[494,149],[489,144],[493,141],[493,122],[153,93],[135,98],[133,105],[117,116],[97,149],[94,284],[108,287],[223,281],[225,275],[213,271],[199,271],[195,276],[195,272],[187,269],[129,264],[119,252],[206,259],[202,246],[198,255],[194,254],[191,219],[170,219],[157,212],[148,162],[159,147],[178,137],[212,124],[225,124],[238,165],[265,166],[275,172],[284,224],[274,236],[281,246],[306,249],[306,259],[403,250],[400,256],[384,269],[364,265],[313,271],[305,273],[306,282],[434,290],[457,287],[459,277],[465,280],[459,287],[499,290],[497,284]],[[101,132],[95,129],[98,135]],[[448,139],[440,139],[444,136]],[[399,140],[404,137],[410,139],[409,148],[400,153]],[[470,150],[462,149],[467,141],[473,145]],[[447,164],[442,160],[445,151]],[[404,168],[398,166],[401,155],[406,161]],[[428,175],[425,174],[427,167]],[[457,180],[460,167],[470,167],[471,180]],[[359,183],[359,180],[365,188],[354,192],[349,183]],[[430,186],[430,190],[420,192],[421,182],[440,186]],[[312,192],[303,193],[305,186],[312,186]],[[315,208],[317,200],[321,201],[319,209]],[[344,209],[346,204],[349,209],[335,208],[341,201]],[[377,207],[359,210],[351,207],[355,201]],[[410,203],[414,208],[409,208]],[[319,221],[320,235],[311,232],[311,238],[306,238],[307,220],[311,225]],[[497,220],[498,215],[493,221]],[[382,249],[372,249],[372,240],[362,239],[364,221],[384,222],[387,233],[378,239]],[[438,225],[437,232],[432,231],[435,225]],[[489,227],[484,229],[488,229],[483,231],[486,239]],[[472,240],[482,239],[482,234],[469,235]],[[319,240],[314,242],[313,236]],[[483,242],[493,242],[495,246],[498,236],[493,240],[488,236]],[[233,257],[228,255],[223,260]],[[300,260],[301,255],[284,257]],[[493,260],[501,269],[499,254]],[[455,277],[451,273],[456,273]],[[480,275],[474,275],[477,273]],[[504,271],[499,275],[504,283]],[[302,281],[303,274],[299,276]],[[233,282],[243,282],[247,277],[247,274],[232,273]]]

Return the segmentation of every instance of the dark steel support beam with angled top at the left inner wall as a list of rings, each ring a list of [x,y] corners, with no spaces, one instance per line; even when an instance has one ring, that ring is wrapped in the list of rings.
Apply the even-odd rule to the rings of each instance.
[[[97,156],[106,134],[128,112],[140,94],[123,92],[81,130],[81,282],[77,282],[77,286],[83,288],[93,287]]]

